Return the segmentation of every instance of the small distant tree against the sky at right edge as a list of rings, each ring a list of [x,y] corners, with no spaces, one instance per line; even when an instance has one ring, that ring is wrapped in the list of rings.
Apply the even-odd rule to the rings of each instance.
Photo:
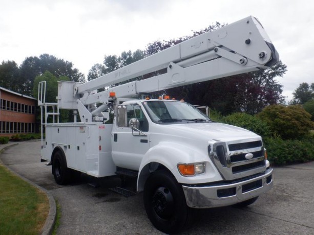
[[[291,104],[304,104],[307,101],[314,100],[314,83],[309,85],[307,82],[303,82],[292,94],[294,98]]]

